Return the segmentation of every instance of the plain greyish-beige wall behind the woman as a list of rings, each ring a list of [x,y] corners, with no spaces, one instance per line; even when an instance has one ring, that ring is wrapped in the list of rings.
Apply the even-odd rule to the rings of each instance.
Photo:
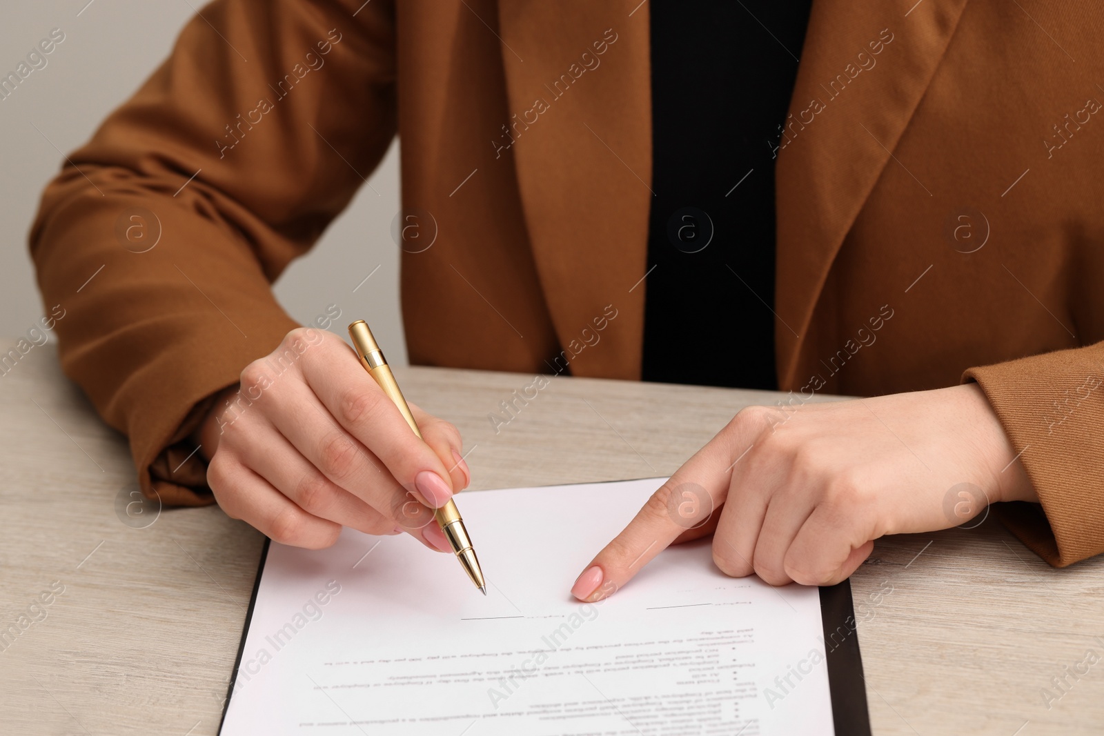
[[[200,7],[199,0],[4,0],[0,76],[14,71],[51,30],[61,29],[65,40],[44,67],[0,100],[0,337],[24,333],[43,313],[26,232],[43,185],[63,160],[57,149],[68,152],[83,143],[168,55]],[[331,330],[341,334],[348,322],[368,319],[388,359],[405,363],[399,248],[391,239],[399,210],[397,146],[370,182],[376,191],[361,188],[315,250],[279,279],[276,295],[300,322],[337,305],[341,318]]]

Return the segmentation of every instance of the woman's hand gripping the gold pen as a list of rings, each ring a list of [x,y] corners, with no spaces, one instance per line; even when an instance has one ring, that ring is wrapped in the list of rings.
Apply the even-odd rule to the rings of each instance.
[[[327,547],[351,526],[452,552],[433,509],[470,481],[460,434],[411,412],[424,441],[349,345],[298,328],[219,395],[195,437],[219,505],[276,542]]]

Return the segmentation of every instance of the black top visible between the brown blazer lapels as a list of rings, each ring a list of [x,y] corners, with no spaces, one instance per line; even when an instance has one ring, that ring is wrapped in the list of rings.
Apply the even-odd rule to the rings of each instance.
[[[811,0],[648,4],[643,377],[775,388],[775,147]]]

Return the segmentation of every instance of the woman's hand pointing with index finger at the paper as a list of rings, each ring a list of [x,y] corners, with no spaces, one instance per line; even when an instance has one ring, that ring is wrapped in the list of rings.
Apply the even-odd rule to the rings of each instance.
[[[656,491],[578,577],[596,600],[672,543],[771,585],[832,585],[884,534],[948,529],[1038,501],[977,384],[794,407],[750,406]]]

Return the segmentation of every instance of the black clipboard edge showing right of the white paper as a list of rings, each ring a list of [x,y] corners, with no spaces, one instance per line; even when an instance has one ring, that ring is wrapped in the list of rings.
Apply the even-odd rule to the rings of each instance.
[[[867,679],[862,674],[851,580],[820,588],[820,622],[836,736],[870,736]]]

